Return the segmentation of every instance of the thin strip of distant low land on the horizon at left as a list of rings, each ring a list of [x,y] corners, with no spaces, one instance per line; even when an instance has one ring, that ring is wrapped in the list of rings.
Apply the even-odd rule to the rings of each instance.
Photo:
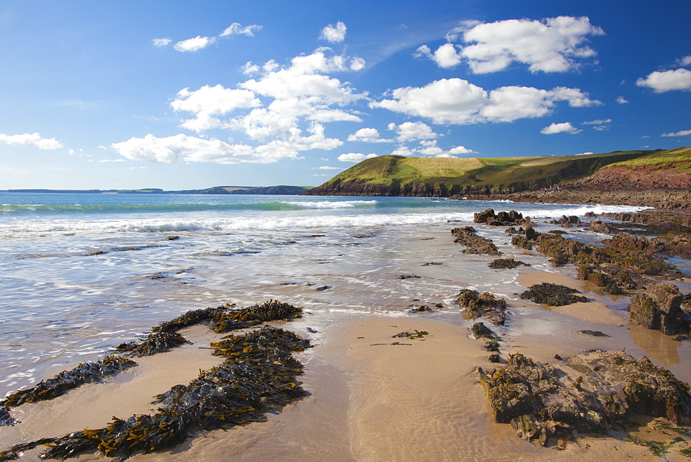
[[[91,194],[275,194],[295,196],[312,189],[312,186],[214,186],[205,190],[164,191],[157,187],[145,187],[141,190],[4,190],[1,192],[34,192],[34,193],[82,193]]]

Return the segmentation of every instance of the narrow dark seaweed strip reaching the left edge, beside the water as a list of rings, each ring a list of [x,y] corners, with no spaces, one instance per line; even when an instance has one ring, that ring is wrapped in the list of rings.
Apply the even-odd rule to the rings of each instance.
[[[62,371],[53,378],[41,380],[33,388],[15,391],[0,400],[0,406],[17,407],[23,403],[36,403],[66,394],[71,389],[85,383],[101,382],[103,378],[114,376],[120,371],[136,366],[137,363],[122,356],[108,355],[94,362],[80,362],[71,371]]]

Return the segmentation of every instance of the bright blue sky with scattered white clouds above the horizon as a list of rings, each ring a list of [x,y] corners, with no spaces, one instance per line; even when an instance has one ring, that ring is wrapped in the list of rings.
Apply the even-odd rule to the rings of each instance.
[[[691,145],[691,2],[0,3],[0,190]]]

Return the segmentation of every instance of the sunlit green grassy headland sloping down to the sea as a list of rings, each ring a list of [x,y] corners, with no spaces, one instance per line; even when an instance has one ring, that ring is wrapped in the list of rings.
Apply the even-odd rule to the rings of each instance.
[[[533,190],[583,178],[605,165],[655,154],[660,151],[502,158],[380,156],[364,160],[307,194],[450,196]]]

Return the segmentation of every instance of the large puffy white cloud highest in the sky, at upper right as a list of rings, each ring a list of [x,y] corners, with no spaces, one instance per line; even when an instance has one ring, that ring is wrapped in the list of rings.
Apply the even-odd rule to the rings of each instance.
[[[566,72],[578,68],[580,60],[596,55],[595,50],[584,45],[586,37],[603,34],[601,28],[590,24],[588,17],[466,22],[446,35],[448,41],[462,39],[470,44],[460,46],[460,53],[448,47],[452,44],[442,46],[446,47],[444,50],[440,47],[435,55],[425,50],[422,53],[442,67],[451,67],[455,59],[462,57],[476,74],[502,71],[512,62],[527,64],[533,73]],[[437,57],[437,53],[444,53],[444,58]]]

